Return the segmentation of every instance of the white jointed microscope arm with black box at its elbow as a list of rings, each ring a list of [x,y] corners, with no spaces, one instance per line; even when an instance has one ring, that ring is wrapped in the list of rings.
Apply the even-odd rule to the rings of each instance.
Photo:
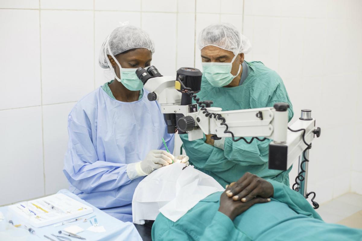
[[[187,113],[189,122],[194,120],[193,130],[189,130],[189,141],[203,137],[203,134],[213,134],[216,139],[221,137],[265,137],[273,141],[269,145],[269,169],[287,170],[302,155],[307,145],[303,141],[303,131],[291,130],[305,129],[304,140],[310,144],[314,139],[315,119],[297,120],[288,129],[288,111],[277,111],[275,108],[256,108],[235,111],[222,111],[221,108],[207,108],[213,117],[206,117],[200,109],[198,112]],[[225,118],[227,124],[222,124],[215,114]],[[189,116],[189,117],[187,117]],[[190,124],[192,126],[192,123]],[[217,136],[217,137],[216,137]],[[244,140],[239,140],[244,141]],[[246,141],[246,139],[245,139]]]

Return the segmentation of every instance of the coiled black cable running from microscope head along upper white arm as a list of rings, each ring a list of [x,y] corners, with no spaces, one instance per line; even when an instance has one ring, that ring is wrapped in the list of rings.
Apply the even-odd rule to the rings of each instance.
[[[215,119],[218,119],[218,120],[221,120],[221,123],[220,125],[224,125],[225,126],[225,130],[224,130],[224,133],[228,133],[228,134],[231,134],[231,138],[233,141],[240,141],[240,140],[243,140],[245,141],[247,144],[250,144],[254,141],[254,139],[257,139],[258,141],[265,141],[267,138],[258,138],[258,137],[252,137],[250,139],[250,141],[248,141],[247,139],[245,139],[244,137],[239,137],[237,139],[235,139],[235,136],[234,136],[234,133],[232,133],[229,129],[229,126],[225,123],[226,120],[225,118],[220,115],[220,114],[215,114],[215,113],[210,113],[209,111],[207,111],[206,107],[205,107],[205,104],[202,104],[200,102],[200,98],[197,98],[197,95],[194,93],[194,91],[191,90],[191,88],[188,88],[184,85],[184,83],[182,83],[182,81],[180,80],[180,78],[178,79],[178,82],[181,83],[182,85],[182,88],[184,90],[187,90],[187,94],[191,96],[191,98],[193,98],[196,102],[196,104],[198,104],[199,107],[201,107],[201,110],[203,111],[202,113],[205,114],[206,117],[210,117],[210,119],[212,118],[212,116],[214,116]]]

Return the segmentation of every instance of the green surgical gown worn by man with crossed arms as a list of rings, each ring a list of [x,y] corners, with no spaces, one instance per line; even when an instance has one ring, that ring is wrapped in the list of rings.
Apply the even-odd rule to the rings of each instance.
[[[221,107],[223,111],[273,107],[277,102],[285,102],[290,106],[290,121],[294,112],[281,77],[261,62],[244,62],[247,69],[244,67],[243,72],[247,70],[248,75],[241,85],[214,87],[203,76],[197,97],[201,101],[212,100],[212,106]],[[190,163],[214,177],[222,186],[237,181],[245,172],[289,185],[290,169],[284,172],[268,169],[269,139],[262,142],[254,139],[251,144],[247,144],[243,140],[233,142],[231,138],[225,138],[223,150],[206,144],[205,135],[203,139],[195,141],[189,141],[188,134],[180,137]],[[249,141],[251,137],[246,139]]]

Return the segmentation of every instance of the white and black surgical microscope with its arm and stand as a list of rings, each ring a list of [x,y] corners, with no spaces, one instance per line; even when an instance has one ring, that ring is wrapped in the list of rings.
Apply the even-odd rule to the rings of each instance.
[[[286,103],[222,111],[222,108],[211,107],[212,101],[199,100],[196,94],[201,89],[202,73],[198,69],[180,68],[175,77],[162,76],[155,66],[150,66],[147,70],[138,68],[136,75],[149,91],[148,100],[157,100],[160,104],[168,133],[188,133],[189,141],[201,139],[203,134],[211,134],[214,140],[229,137],[248,144],[254,139],[270,139],[269,169],[286,171],[298,158],[298,176],[292,188],[305,198],[313,194],[312,204],[314,208],[319,207],[314,201],[315,193],[307,192],[309,150],[314,137],[321,133],[321,129],[315,127],[311,110],[302,109],[299,120],[289,127]]]

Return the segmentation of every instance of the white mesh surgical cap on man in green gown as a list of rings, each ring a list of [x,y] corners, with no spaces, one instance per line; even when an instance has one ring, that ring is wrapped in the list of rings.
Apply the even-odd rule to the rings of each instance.
[[[237,55],[249,53],[252,49],[249,39],[240,34],[239,30],[231,23],[214,23],[201,30],[198,43],[201,50],[205,46],[216,46]]]

